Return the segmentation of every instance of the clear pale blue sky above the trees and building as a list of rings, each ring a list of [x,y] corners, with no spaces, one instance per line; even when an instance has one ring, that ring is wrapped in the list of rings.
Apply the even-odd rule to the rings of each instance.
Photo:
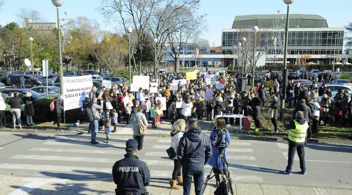
[[[329,27],[343,27],[352,22],[351,2],[349,0],[296,0],[290,7],[291,14],[316,14],[327,19]],[[67,18],[85,16],[96,19],[102,29],[111,30],[115,24],[106,24],[104,17],[96,11],[99,0],[65,0],[60,8],[61,17],[67,12]],[[38,10],[48,22],[56,21],[56,7],[51,0],[5,0],[5,6],[0,11],[0,24],[5,25],[17,21],[16,13],[21,8]],[[207,14],[208,32],[204,38],[210,45],[221,45],[223,28],[231,28],[236,15],[250,14],[286,14],[286,4],[282,0],[201,0],[200,14]]]

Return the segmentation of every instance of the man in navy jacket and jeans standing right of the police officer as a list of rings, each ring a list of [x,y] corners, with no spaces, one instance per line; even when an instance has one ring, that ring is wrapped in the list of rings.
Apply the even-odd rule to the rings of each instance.
[[[177,157],[182,165],[184,195],[191,193],[192,176],[196,194],[202,194],[204,165],[211,158],[209,136],[202,133],[197,119],[188,120],[188,132],[180,139]]]

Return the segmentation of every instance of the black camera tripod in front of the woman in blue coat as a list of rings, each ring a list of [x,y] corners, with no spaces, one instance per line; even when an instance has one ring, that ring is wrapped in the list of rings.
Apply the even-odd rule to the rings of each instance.
[[[229,170],[228,170],[228,162],[226,161],[226,158],[225,158],[225,147],[221,147],[221,148],[217,148],[217,157],[216,157],[216,160],[215,160],[215,162],[214,162],[214,164],[213,164],[213,166],[212,166],[212,169],[211,169],[211,171],[210,171],[210,173],[209,173],[209,175],[207,175],[207,177],[206,177],[206,180],[205,180],[205,183],[204,183],[204,185],[203,185],[203,189],[202,189],[202,191],[203,191],[203,193],[204,193],[204,191],[205,191],[205,188],[206,188],[206,186],[207,186],[207,184],[208,184],[208,181],[211,179],[211,178],[213,178],[213,177],[215,177],[215,175],[216,175],[216,173],[214,172],[214,167],[215,167],[215,165],[216,165],[216,162],[217,162],[217,160],[220,160],[220,176],[219,176],[219,178],[220,178],[220,181],[219,181],[219,185],[218,186],[216,186],[216,191],[217,191],[217,188],[219,187],[219,186],[223,186],[224,187],[224,189],[222,190],[222,191],[224,191],[225,193],[224,194],[221,194],[221,195],[228,195],[229,194],[229,191],[231,192],[231,194],[234,194],[234,191],[233,191],[233,188],[232,188],[232,180],[231,180],[231,175],[230,175],[230,173],[229,173]],[[225,165],[226,165],[226,167],[225,167]],[[214,173],[214,175],[213,176],[211,176],[211,172],[213,172]],[[222,185],[222,183],[228,183],[228,185]],[[215,191],[215,192],[216,192]],[[214,194],[215,194],[215,192],[214,192]]]

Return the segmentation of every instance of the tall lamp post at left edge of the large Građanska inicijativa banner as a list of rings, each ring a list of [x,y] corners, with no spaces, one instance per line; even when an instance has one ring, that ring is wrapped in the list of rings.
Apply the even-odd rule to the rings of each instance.
[[[58,19],[58,41],[59,41],[59,67],[60,67],[60,94],[64,94],[64,79],[63,79],[63,71],[62,71],[62,54],[61,54],[61,25],[60,25],[60,15],[59,15],[59,7],[64,4],[64,0],[52,0],[54,6],[57,9],[57,19]],[[32,64],[33,71],[33,64]]]

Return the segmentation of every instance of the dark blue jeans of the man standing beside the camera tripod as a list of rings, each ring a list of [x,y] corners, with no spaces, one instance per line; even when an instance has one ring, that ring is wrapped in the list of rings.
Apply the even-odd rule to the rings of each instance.
[[[187,165],[182,166],[183,177],[183,195],[191,194],[192,176],[194,178],[194,191],[197,195],[202,195],[202,187],[204,181],[204,166],[190,167]]]

